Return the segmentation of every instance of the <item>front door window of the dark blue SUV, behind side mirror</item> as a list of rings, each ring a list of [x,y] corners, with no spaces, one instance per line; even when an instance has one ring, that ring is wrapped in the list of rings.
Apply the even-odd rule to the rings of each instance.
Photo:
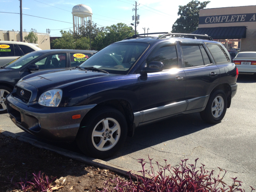
[[[164,64],[163,70],[179,68],[177,50],[175,45],[162,46],[146,59],[147,64],[152,61],[159,61]]]

